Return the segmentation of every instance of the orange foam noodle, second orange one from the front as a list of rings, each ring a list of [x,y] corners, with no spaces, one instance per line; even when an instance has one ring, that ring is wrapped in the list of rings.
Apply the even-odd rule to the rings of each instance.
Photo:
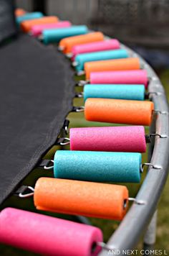
[[[151,101],[124,99],[87,99],[84,115],[88,121],[116,124],[150,125],[154,104]]]

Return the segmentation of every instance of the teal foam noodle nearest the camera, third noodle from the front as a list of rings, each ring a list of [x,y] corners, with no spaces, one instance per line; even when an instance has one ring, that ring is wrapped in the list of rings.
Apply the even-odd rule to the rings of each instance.
[[[140,182],[140,153],[57,150],[54,178],[96,182]]]

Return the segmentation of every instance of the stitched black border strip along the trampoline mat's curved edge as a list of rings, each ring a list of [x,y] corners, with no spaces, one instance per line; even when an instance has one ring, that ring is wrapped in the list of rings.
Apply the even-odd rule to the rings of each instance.
[[[41,42],[37,42],[37,43],[41,44]],[[51,47],[54,50],[56,50],[53,45],[49,45],[47,47]],[[61,52],[59,52],[59,54],[62,55]],[[65,65],[65,61],[67,61],[68,74],[66,75],[69,76],[70,73],[72,73],[72,79],[69,81],[69,83],[66,83],[66,86],[64,88],[64,100],[62,101],[63,112],[69,114],[69,112],[72,111],[72,102],[74,99],[74,72],[73,70],[71,70],[69,60],[65,58],[65,60],[62,59],[62,61],[64,61],[64,65]],[[64,77],[65,80],[67,80],[66,77],[67,76]],[[72,95],[72,98],[70,98],[70,95]],[[14,193],[16,188],[19,186],[19,183],[21,183],[21,181],[24,178],[26,178],[26,175],[28,175],[36,167],[39,160],[42,159],[42,156],[47,151],[49,151],[49,149],[54,145],[63,127],[64,120],[66,119],[67,114],[65,114],[64,116],[59,114],[59,117],[57,116],[57,118],[54,119],[52,124],[49,126],[49,130],[48,130],[49,132],[47,133],[47,137],[44,140],[44,143],[40,145],[40,147],[37,149],[36,152],[34,152],[34,155],[32,156],[32,159],[29,161],[29,163],[27,163],[27,165],[21,168],[21,170],[19,171],[19,174],[16,175],[15,179],[11,183],[11,186],[9,186],[8,189],[6,189],[6,191],[4,191],[4,193],[1,195],[1,204],[4,203],[6,198],[8,198],[9,196],[11,196],[12,193]],[[59,128],[57,128],[58,126]]]

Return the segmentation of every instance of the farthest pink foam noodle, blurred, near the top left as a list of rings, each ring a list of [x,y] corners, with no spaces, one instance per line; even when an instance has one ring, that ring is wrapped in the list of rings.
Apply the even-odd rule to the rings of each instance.
[[[42,34],[44,29],[61,29],[64,27],[71,27],[71,26],[72,24],[68,21],[55,22],[51,24],[34,25],[31,29],[31,33],[34,37],[37,37]]]

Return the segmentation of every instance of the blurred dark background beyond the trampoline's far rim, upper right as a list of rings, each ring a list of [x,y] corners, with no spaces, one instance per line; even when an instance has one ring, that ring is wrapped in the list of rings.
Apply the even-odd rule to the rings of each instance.
[[[117,37],[151,65],[169,65],[168,0],[16,0],[27,11],[55,14]]]

